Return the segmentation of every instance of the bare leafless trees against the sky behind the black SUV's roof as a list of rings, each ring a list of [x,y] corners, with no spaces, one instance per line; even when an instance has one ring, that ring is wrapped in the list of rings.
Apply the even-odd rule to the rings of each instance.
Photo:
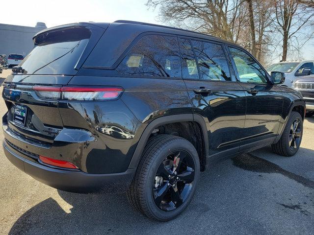
[[[159,6],[161,22],[239,44],[263,64],[267,56],[279,53],[279,44],[286,60],[288,51],[300,51],[314,35],[314,0],[148,0],[146,4]]]

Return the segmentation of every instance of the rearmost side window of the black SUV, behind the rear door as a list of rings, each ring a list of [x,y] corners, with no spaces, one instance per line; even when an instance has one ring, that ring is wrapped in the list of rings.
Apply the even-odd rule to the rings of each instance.
[[[143,36],[126,55],[117,70],[123,75],[181,77],[177,37]]]

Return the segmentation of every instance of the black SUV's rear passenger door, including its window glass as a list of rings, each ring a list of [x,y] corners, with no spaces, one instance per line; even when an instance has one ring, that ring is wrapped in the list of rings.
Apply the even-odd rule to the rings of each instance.
[[[204,118],[209,155],[236,153],[245,119],[245,94],[235,82],[223,44],[180,38],[182,73],[194,114]],[[196,58],[196,60],[195,60]]]

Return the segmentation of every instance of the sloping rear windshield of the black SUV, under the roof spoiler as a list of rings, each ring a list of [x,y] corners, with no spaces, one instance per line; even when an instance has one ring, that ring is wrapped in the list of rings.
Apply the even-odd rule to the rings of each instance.
[[[84,27],[47,32],[35,38],[35,47],[20,63],[24,74],[75,75],[74,69],[91,33]]]

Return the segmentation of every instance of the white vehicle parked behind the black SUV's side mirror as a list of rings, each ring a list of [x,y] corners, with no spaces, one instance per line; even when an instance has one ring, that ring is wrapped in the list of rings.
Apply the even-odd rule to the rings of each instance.
[[[314,78],[314,61],[286,61],[273,64],[269,66],[267,72],[280,71],[284,72],[286,76],[285,82],[282,86],[291,87],[292,82],[301,78]]]

